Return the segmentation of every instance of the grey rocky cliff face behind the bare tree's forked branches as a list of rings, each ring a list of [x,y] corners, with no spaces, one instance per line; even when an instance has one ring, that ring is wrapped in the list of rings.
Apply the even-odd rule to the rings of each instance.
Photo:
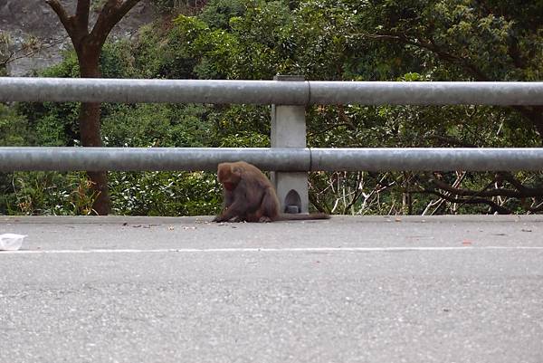
[[[75,11],[77,0],[61,0],[70,14]],[[98,1],[92,1],[91,19],[96,19],[100,11]],[[142,0],[117,24],[111,37],[130,37],[138,27],[152,21],[155,12],[149,0]],[[93,24],[93,23],[91,23]],[[0,0],[0,32],[8,33],[16,46],[29,37],[35,37],[41,44],[38,53],[29,58],[17,59],[8,65],[7,71],[12,76],[21,76],[42,69],[62,59],[62,50],[71,46],[57,15],[45,0]]]

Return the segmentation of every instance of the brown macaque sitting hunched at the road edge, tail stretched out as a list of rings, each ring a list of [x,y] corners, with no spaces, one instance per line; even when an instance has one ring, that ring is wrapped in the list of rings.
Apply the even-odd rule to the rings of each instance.
[[[272,222],[279,220],[328,219],[324,213],[314,215],[282,214],[279,199],[270,180],[262,171],[244,161],[221,163],[217,179],[224,188],[224,208],[214,222]]]

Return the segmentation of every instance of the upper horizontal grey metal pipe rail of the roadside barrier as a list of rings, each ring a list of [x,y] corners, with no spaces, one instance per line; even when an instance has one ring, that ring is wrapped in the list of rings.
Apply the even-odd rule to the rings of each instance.
[[[0,77],[0,101],[543,105],[543,82],[217,81]]]

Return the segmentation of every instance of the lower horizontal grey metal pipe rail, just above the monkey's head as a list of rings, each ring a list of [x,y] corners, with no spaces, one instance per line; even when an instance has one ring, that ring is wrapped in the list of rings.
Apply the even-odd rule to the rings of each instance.
[[[0,171],[215,171],[237,160],[286,172],[543,170],[543,148],[0,148]]]

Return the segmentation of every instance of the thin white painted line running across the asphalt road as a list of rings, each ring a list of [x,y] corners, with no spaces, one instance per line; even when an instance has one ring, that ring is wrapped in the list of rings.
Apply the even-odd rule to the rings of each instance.
[[[48,253],[284,253],[284,252],[413,252],[413,251],[519,251],[543,250],[543,246],[462,246],[462,247],[284,247],[284,248],[161,248],[161,249],[90,249],[90,250],[19,250],[2,254]]]

